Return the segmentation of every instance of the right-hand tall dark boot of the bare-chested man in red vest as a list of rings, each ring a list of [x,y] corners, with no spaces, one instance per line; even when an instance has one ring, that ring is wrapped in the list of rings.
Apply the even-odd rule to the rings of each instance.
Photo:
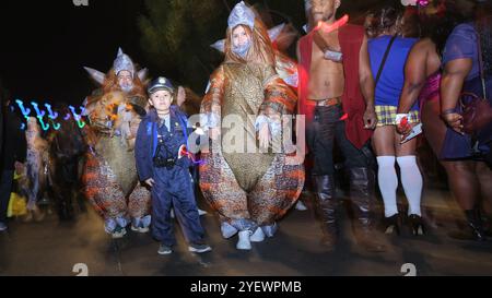
[[[350,196],[355,206],[359,219],[359,228],[355,236],[360,246],[367,251],[383,252],[385,246],[378,241],[372,227],[371,211],[373,208],[375,191],[375,174],[368,168],[351,168],[350,172]]]

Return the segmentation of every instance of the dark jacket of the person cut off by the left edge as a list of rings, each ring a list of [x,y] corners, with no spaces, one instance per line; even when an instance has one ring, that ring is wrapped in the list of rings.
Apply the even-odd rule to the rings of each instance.
[[[13,170],[15,162],[24,163],[27,154],[25,130],[21,119],[10,109],[4,110],[2,117],[2,150],[0,167],[2,170]]]

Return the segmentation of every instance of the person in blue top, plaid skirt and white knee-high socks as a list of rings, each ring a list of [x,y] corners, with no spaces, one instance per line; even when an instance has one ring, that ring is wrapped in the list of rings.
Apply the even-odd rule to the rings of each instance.
[[[408,216],[413,235],[422,235],[421,198],[423,179],[417,165],[417,139],[401,144],[396,131],[398,117],[411,124],[420,122],[419,106],[413,105],[406,115],[398,115],[397,107],[403,88],[403,68],[415,38],[402,37],[403,11],[401,7],[385,5],[373,13],[367,32],[374,38],[368,41],[371,67],[376,78],[377,128],[373,147],[377,155],[378,183],[385,204],[386,233],[400,233],[400,215],[397,205],[398,176],[395,164],[401,169],[401,183],[409,202]],[[401,119],[401,118],[400,118]]]

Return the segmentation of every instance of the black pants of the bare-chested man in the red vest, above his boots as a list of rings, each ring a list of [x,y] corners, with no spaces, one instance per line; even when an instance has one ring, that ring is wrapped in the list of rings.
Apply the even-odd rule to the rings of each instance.
[[[315,120],[307,129],[307,145],[314,155],[313,175],[335,174],[333,143],[337,141],[347,168],[367,168],[368,158],[356,148],[345,135],[345,122],[340,120],[343,110],[340,105],[316,107]]]

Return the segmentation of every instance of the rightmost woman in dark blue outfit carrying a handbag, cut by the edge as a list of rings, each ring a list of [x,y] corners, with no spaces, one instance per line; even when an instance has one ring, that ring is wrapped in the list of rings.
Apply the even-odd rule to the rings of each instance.
[[[476,1],[448,0],[446,7],[447,13],[456,17],[458,25],[448,37],[443,53],[441,116],[448,128],[441,158],[460,160],[449,166],[449,172],[454,172],[450,178],[455,177],[449,184],[467,215],[475,239],[484,240],[479,200],[480,196],[492,199],[492,123],[477,131],[475,135],[464,133],[458,100],[461,92],[483,97],[487,91],[491,104],[491,23],[484,19],[475,21]],[[487,52],[489,55],[483,55]]]

